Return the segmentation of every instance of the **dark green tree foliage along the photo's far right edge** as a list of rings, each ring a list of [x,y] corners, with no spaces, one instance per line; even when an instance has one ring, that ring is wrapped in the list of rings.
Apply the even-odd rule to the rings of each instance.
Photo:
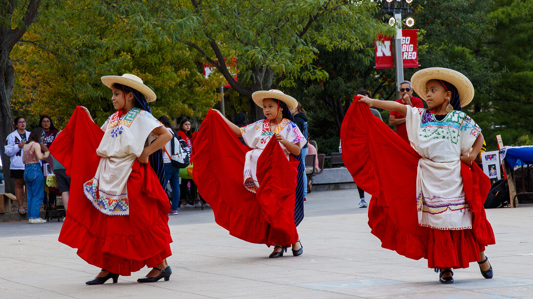
[[[487,146],[495,144],[491,139],[497,134],[504,145],[523,144],[520,136],[533,132],[533,1],[497,0],[489,18],[497,23],[488,46],[490,59],[506,73],[483,94],[491,107],[483,135],[490,134]]]

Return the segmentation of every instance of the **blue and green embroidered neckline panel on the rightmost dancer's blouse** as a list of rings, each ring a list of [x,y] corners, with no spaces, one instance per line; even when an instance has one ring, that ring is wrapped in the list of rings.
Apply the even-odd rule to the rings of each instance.
[[[432,139],[448,139],[451,143],[459,142],[459,129],[465,117],[462,111],[453,111],[442,121],[437,121],[429,111],[424,111],[420,124],[419,136]]]

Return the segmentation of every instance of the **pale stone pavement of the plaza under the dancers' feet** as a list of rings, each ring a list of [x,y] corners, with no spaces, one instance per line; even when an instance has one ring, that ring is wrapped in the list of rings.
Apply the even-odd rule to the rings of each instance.
[[[181,210],[169,220],[171,279],[151,284],[136,283],[143,269],[87,286],[99,269],[58,242],[62,223],[0,223],[0,298],[533,298],[533,204],[487,210],[494,278],[472,263],[441,285],[425,260],[381,248],[357,203],[353,189],[310,193],[298,227],[304,253],[278,259],[230,236],[211,209]]]

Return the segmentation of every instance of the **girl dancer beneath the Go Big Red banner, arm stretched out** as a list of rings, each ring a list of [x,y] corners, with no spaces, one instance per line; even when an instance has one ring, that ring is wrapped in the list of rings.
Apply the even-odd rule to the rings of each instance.
[[[453,283],[452,268],[474,261],[491,278],[484,248],[495,240],[483,210],[489,179],[472,163],[483,136],[461,111],[474,88],[463,74],[443,68],[418,71],[412,82],[427,110],[357,96],[343,121],[343,160],[356,184],[373,195],[368,224],[384,248],[441,270],[443,284]],[[405,115],[412,147],[363,104]]]

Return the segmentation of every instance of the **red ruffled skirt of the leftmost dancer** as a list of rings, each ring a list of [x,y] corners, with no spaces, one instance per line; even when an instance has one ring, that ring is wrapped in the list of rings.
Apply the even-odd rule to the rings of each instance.
[[[82,185],[98,168],[96,148],[103,133],[78,106],[50,148],[71,178],[68,217],[59,242],[77,248],[87,263],[129,276],[145,265],[157,267],[172,254],[170,205],[154,170],[135,161],[127,181],[130,214],[109,216],[95,209]]]

